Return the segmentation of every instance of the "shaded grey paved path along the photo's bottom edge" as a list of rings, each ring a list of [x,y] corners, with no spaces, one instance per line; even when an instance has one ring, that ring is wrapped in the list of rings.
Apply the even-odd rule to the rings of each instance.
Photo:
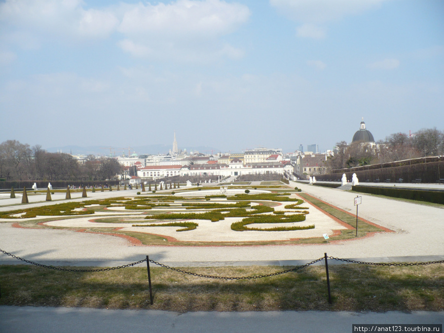
[[[0,332],[326,332],[352,324],[442,324],[444,312],[188,312],[0,306]]]

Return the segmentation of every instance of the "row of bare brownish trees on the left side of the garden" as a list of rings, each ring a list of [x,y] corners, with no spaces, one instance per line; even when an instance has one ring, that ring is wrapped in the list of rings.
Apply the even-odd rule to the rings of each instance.
[[[5,181],[106,181],[122,173],[113,158],[88,155],[79,163],[72,155],[47,152],[16,140],[0,144],[0,179]]]

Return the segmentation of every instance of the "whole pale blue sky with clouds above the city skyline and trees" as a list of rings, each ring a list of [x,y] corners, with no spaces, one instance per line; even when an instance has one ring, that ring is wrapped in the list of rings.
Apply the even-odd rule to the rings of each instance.
[[[0,1],[0,143],[324,151],[443,106],[443,0]]]

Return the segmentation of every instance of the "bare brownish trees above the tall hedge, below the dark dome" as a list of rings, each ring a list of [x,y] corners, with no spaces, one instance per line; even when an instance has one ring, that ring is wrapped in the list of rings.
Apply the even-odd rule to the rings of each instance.
[[[328,170],[334,170],[443,154],[444,132],[436,127],[425,128],[412,136],[406,133],[391,134],[374,146],[362,142],[350,145],[345,141],[338,142],[326,166]]]

